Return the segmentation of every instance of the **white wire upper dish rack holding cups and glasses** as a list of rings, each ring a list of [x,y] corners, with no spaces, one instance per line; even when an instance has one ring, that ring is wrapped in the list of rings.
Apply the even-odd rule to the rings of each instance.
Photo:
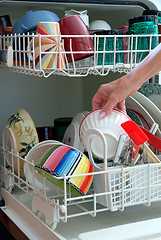
[[[35,76],[58,74],[70,77],[88,74],[105,76],[109,71],[127,73],[158,44],[159,34],[150,35],[7,35],[0,36],[0,62],[2,66]],[[64,49],[65,38],[90,37],[94,49],[70,51]],[[44,39],[57,38],[57,45],[44,47]],[[74,60],[75,54],[90,54]],[[72,59],[68,62],[68,55]],[[50,64],[49,66],[46,62]],[[59,64],[61,62],[61,64]]]

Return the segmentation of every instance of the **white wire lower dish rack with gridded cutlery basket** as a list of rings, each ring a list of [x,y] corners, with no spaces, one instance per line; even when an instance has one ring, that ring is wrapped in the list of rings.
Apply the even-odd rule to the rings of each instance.
[[[46,224],[55,229],[60,221],[67,222],[69,218],[97,214],[104,211],[124,211],[125,207],[145,204],[150,206],[152,202],[161,200],[161,163],[149,163],[132,167],[108,167],[106,171],[95,171],[93,178],[100,179],[100,184],[105,183],[105,189],[96,192],[94,184],[91,185],[88,193],[84,196],[74,196],[70,189],[67,192],[67,177],[59,177],[64,183],[64,189],[53,184],[53,188],[46,191],[47,179],[42,176],[43,189],[39,190],[34,186],[34,164],[27,162],[13,151],[2,148],[4,156],[1,166],[2,187],[11,195],[21,192],[30,196],[30,205],[33,214],[38,218],[41,214],[45,216]],[[8,166],[6,154],[12,157],[12,165]],[[30,164],[33,168],[33,183],[29,183],[27,178],[14,172],[14,161],[20,166],[20,161]],[[85,175],[88,175],[85,174]],[[70,177],[79,177],[77,176]],[[54,177],[54,176],[53,176]],[[102,181],[102,182],[101,182]],[[2,191],[3,193],[3,191]],[[3,194],[2,194],[3,195]],[[102,204],[102,203],[103,204]]]

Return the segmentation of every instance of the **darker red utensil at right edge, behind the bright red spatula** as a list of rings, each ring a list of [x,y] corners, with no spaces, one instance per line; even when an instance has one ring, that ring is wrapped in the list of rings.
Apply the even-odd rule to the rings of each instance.
[[[155,136],[153,133],[149,132],[144,127],[141,127],[141,130],[147,135],[149,138],[148,143],[153,146],[155,149],[157,149],[159,152],[161,152],[161,139]]]

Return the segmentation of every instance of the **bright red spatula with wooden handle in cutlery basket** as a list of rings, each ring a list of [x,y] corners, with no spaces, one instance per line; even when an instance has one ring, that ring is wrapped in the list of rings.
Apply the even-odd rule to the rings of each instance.
[[[143,149],[143,147],[146,147],[148,157],[152,160],[153,163],[160,163],[159,158],[146,144],[149,138],[134,121],[126,121],[121,124],[121,127],[125,130],[125,132],[129,135],[129,137],[136,145],[140,146],[141,149]]]

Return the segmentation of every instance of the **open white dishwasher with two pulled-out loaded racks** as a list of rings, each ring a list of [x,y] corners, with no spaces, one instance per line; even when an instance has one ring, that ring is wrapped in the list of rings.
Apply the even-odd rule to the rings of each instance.
[[[159,0],[0,1],[0,15],[9,15],[12,27],[25,14],[30,14],[31,11],[45,10],[53,12],[59,19],[63,19],[68,14],[74,16],[79,14],[84,17],[82,19],[86,21],[89,29],[90,23],[95,20],[106,21],[111,29],[120,29],[122,26],[128,25],[130,18],[141,16],[144,10],[149,9],[161,10],[161,2]],[[66,26],[66,29],[68,27]],[[160,163],[126,167],[117,164],[111,166],[109,163],[108,167],[106,153],[104,153],[103,162],[93,163],[89,147],[86,150],[88,150],[87,154],[94,165],[94,171],[78,174],[78,177],[83,176],[87,179],[92,177],[95,179],[97,187],[95,188],[92,182],[87,194],[73,194],[72,187],[67,184],[69,176],[65,174],[61,177],[53,177],[55,179],[53,181],[56,183],[61,181],[61,187],[59,184],[54,184],[55,182],[48,181],[47,175],[43,173],[41,178],[38,177],[39,183],[37,183],[35,179],[39,173],[35,172],[35,164],[32,161],[29,162],[27,156],[24,158],[20,152],[15,152],[12,149],[11,140],[6,140],[10,149],[5,147],[2,140],[9,116],[11,116],[10,124],[12,124],[13,118],[17,121],[15,125],[20,121],[18,112],[16,112],[17,115],[11,115],[17,109],[26,109],[37,128],[53,126],[54,119],[74,119],[80,113],[84,113],[84,117],[89,116],[88,114],[92,110],[91,100],[98,87],[119,78],[134,68],[146,53],[152,50],[153,40],[160,37],[158,33],[144,35],[144,38],[149,39],[148,50],[144,51],[137,49],[137,38],[142,38],[142,35],[113,34],[110,38],[113,38],[114,49],[105,49],[106,42],[103,40],[102,50],[98,50],[99,39],[106,37],[104,34],[99,35],[99,32],[92,31],[93,29],[91,29],[90,38],[93,49],[87,52],[83,50],[78,52],[78,55],[89,53],[88,58],[80,58],[78,61],[75,60],[71,42],[68,51],[64,51],[65,37],[62,40],[58,32],[46,35],[48,40],[54,34],[58,39],[59,50],[56,51],[58,51],[57,54],[59,53],[59,62],[62,63],[62,66],[53,68],[43,67],[41,62],[40,56],[45,54],[41,34],[29,32],[27,34],[1,35],[1,196],[4,201],[1,211],[14,222],[26,238],[31,240],[161,239]],[[73,35],[71,34],[70,37]],[[89,35],[85,36],[84,34],[83,37],[87,40]],[[72,38],[73,42],[75,38],[80,39],[82,36],[75,35]],[[128,39],[128,45],[131,48],[118,50],[117,40],[119,38]],[[38,43],[40,54],[38,65],[35,60],[34,46],[36,43]],[[61,55],[60,49],[64,55]],[[107,60],[106,51],[114,54],[113,62],[111,61],[110,64],[105,62]],[[120,53],[123,54],[121,55],[123,60],[117,61]],[[71,56],[70,61],[68,54]],[[154,86],[156,83],[160,86],[160,73],[150,81],[154,83]],[[132,110],[133,115],[137,111],[137,120],[142,117],[144,124],[150,127],[151,132],[153,131],[158,138],[161,138],[159,99],[152,99],[155,100],[155,105],[150,100],[150,93],[146,95],[146,88],[143,86],[141,90],[142,92],[138,91],[126,99],[129,116],[131,116]],[[80,133],[77,132],[77,134]],[[90,140],[88,133],[84,135],[85,141],[86,139]],[[71,139],[68,138],[65,142],[67,146],[70,143],[69,140]],[[53,141],[57,143],[56,139]],[[120,138],[120,145],[122,141],[124,140]],[[23,144],[25,146],[25,143]],[[33,149],[40,142],[37,141],[36,144],[34,147],[32,145]],[[116,152],[117,150],[119,152],[120,145],[117,146]],[[104,147],[106,149],[106,144]],[[81,146],[81,151],[83,150]],[[130,151],[129,148],[126,153],[128,154]],[[160,151],[155,153],[161,159]],[[117,157],[115,155],[115,160]],[[7,158],[10,158],[10,164],[8,164]],[[14,159],[16,159],[16,165],[14,165]],[[29,178],[32,179],[32,184],[26,174],[24,176],[21,173],[21,164],[25,166],[25,169],[29,167]]]

